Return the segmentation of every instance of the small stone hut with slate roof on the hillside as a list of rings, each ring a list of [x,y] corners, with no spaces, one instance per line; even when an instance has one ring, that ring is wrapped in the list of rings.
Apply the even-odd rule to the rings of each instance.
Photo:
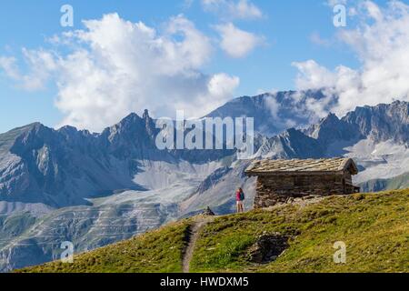
[[[245,170],[257,176],[254,208],[286,203],[304,196],[359,193],[352,176],[358,168],[351,158],[259,160]]]

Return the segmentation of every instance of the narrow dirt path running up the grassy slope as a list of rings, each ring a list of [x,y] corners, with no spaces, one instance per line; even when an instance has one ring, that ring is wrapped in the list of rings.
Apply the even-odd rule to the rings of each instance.
[[[195,221],[193,222],[192,226],[190,226],[189,236],[187,237],[187,246],[182,261],[184,273],[189,273],[190,261],[192,260],[200,231],[212,221],[214,221],[214,216],[198,216],[195,217]]]

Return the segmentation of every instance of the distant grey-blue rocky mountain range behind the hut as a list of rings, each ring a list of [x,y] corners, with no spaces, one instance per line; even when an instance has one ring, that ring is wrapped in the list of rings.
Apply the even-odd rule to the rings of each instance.
[[[311,125],[316,115],[305,100],[312,97],[324,95],[241,97],[208,116],[255,117],[254,158],[350,156],[361,170],[355,182],[365,190],[407,185],[409,103],[358,107]],[[63,241],[75,251],[92,249],[205,206],[229,213],[237,186],[251,206],[249,161],[227,150],[160,151],[157,133],[145,111],[100,134],[36,123],[0,135],[0,270],[56,258]]]

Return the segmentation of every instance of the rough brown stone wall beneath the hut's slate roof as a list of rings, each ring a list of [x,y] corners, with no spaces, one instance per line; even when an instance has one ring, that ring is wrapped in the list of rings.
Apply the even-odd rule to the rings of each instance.
[[[345,195],[354,191],[348,174],[258,176],[254,208],[286,203],[290,198]]]

